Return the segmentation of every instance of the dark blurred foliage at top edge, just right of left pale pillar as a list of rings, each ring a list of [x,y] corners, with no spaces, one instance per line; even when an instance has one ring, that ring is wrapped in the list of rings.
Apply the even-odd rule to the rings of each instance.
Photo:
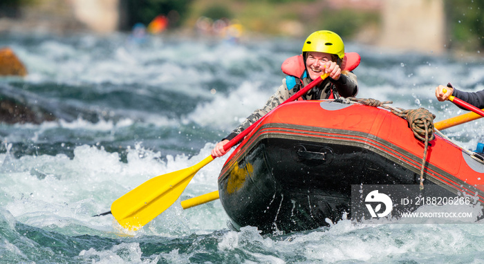
[[[2,0],[3,1],[3,0]],[[169,26],[179,26],[187,16],[192,0],[126,0],[128,23],[132,27],[136,23],[148,25],[156,16],[165,15],[169,18]]]

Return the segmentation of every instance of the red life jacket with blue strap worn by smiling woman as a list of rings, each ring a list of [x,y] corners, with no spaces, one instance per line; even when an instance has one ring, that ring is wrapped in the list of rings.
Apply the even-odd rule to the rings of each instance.
[[[354,70],[358,65],[360,65],[361,62],[361,57],[358,53],[344,53],[344,58],[342,61],[342,66],[341,69],[343,70]],[[306,70],[306,65],[304,65],[304,59],[302,55],[296,55],[292,56],[288,59],[286,59],[281,66],[282,72],[285,73],[286,75],[289,75],[286,77],[286,84],[288,82],[293,82],[296,84],[296,79],[299,79],[302,84],[302,77],[304,74],[304,71]],[[288,86],[288,89],[291,89],[293,86]],[[331,93],[329,95],[329,99],[333,99],[334,95]]]

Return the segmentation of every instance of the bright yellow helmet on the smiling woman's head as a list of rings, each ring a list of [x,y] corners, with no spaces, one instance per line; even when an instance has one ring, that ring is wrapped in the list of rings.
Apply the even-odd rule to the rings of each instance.
[[[319,30],[313,32],[304,41],[303,53],[316,51],[318,53],[335,54],[339,59],[344,58],[344,44],[339,35],[329,30]]]

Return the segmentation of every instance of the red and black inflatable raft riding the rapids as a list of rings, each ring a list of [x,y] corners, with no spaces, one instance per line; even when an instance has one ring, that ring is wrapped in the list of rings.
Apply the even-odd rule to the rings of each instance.
[[[295,232],[351,215],[352,185],[416,185],[424,142],[407,120],[363,104],[298,101],[268,113],[239,144],[218,178],[235,227]],[[482,202],[484,164],[436,135],[425,186],[438,195],[472,194]]]

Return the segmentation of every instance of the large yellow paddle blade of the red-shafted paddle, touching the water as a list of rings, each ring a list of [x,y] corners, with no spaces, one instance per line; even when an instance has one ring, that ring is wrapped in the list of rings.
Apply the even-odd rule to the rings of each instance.
[[[138,230],[178,200],[195,174],[214,158],[208,156],[198,164],[151,178],[132,189],[111,205],[111,213],[120,225]]]

